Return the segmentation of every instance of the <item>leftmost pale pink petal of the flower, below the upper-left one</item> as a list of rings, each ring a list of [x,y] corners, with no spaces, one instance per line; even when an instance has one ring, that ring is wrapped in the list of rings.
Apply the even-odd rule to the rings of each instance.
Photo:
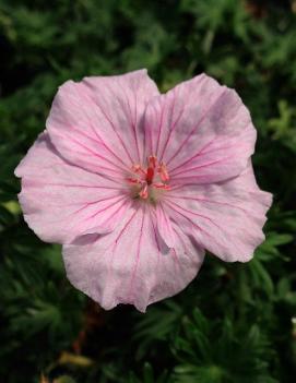
[[[110,231],[130,205],[122,177],[102,177],[70,165],[46,133],[15,175],[22,177],[19,200],[24,218],[45,241],[67,242],[79,235]]]

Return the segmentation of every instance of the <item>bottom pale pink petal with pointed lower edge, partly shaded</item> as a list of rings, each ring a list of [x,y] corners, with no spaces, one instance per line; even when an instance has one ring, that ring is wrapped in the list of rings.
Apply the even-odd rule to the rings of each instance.
[[[111,234],[63,247],[70,282],[107,310],[130,303],[144,312],[183,289],[201,266],[203,251],[177,225],[175,248],[164,243],[150,207],[135,202]]]

